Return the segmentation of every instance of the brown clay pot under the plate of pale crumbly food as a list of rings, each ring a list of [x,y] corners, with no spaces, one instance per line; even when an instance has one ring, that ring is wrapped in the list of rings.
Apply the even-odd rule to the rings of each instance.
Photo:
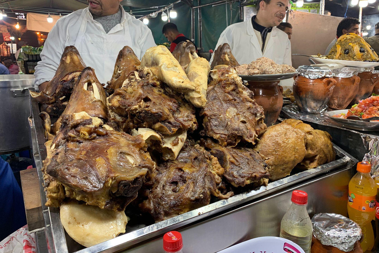
[[[283,87],[279,81],[248,82],[248,88],[254,92],[254,99],[265,111],[265,124],[267,127],[275,124],[283,106]]]

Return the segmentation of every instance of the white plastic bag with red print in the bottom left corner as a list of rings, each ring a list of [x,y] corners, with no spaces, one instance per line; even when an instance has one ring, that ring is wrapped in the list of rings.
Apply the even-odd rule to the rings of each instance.
[[[29,234],[28,225],[2,240],[0,253],[37,253],[36,239],[34,234]]]

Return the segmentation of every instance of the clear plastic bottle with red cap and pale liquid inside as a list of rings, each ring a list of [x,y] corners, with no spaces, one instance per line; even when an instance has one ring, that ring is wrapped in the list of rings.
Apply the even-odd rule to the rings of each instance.
[[[305,253],[310,253],[313,227],[306,211],[308,194],[300,190],[293,191],[291,201],[292,205],[280,224],[280,237],[291,240]]]

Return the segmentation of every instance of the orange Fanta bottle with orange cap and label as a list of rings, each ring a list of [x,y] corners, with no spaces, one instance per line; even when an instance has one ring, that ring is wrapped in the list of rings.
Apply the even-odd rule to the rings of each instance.
[[[357,173],[349,182],[349,196],[347,212],[349,218],[355,221],[362,229],[362,251],[371,251],[374,247],[374,230],[371,220],[375,217],[375,203],[377,186],[370,175],[371,165],[360,162]]]

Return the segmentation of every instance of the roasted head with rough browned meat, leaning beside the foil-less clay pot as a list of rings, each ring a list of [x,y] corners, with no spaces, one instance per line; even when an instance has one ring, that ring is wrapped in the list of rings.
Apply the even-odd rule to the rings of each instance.
[[[266,128],[264,111],[254,94],[232,68],[213,70],[208,84],[207,103],[201,110],[205,135],[222,146],[236,146],[241,140],[255,144]]]

